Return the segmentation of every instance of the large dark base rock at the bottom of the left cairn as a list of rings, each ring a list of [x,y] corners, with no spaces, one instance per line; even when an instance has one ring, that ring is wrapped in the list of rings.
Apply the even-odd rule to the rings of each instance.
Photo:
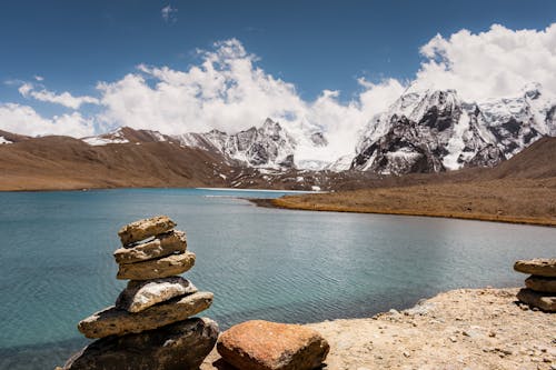
[[[218,324],[193,318],[139,334],[109,337],[87,346],[63,370],[198,369],[218,338]]]

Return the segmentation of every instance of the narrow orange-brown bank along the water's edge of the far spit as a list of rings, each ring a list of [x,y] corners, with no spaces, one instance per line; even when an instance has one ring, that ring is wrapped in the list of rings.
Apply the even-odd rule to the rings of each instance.
[[[339,212],[339,213],[369,213],[369,214],[393,214],[393,216],[413,216],[413,217],[431,217],[431,218],[444,218],[444,219],[457,219],[457,220],[469,220],[469,221],[485,221],[485,222],[502,222],[502,223],[514,223],[514,224],[528,224],[538,227],[556,227],[556,220],[550,220],[546,218],[516,218],[516,217],[504,217],[498,214],[465,214],[455,212],[419,212],[419,211],[404,211],[404,210],[379,210],[379,209],[349,209],[345,207],[326,206],[326,204],[292,204],[285,201],[281,198],[276,199],[249,199],[251,203],[257,204],[257,207],[262,208],[276,208],[276,209],[287,209],[297,211],[314,211],[314,212]]]

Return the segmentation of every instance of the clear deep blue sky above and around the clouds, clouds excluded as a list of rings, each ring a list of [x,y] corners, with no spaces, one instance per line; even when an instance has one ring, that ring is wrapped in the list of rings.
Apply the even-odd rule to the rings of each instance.
[[[187,71],[203,60],[197,49],[230,39],[257,56],[265,73],[292,83],[299,99],[338,90],[336,99],[349,104],[366,89],[358,78],[414,80],[425,59],[419,48],[437,33],[477,34],[496,23],[540,31],[555,21],[552,0],[2,1],[0,104],[29,106],[47,119],[69,114],[76,109],[24,97],[18,87],[98,97],[99,81],[119,81],[141,63]],[[103,110],[86,103],[78,113]]]

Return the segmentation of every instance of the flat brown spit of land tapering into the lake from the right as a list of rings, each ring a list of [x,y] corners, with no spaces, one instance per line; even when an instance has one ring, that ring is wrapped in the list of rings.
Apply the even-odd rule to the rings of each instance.
[[[383,213],[556,227],[556,179],[387,187],[252,199],[260,207]]]

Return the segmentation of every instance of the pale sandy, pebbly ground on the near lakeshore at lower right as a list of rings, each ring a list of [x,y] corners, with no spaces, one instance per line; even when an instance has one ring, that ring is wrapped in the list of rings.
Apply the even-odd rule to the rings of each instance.
[[[307,324],[330,343],[325,369],[556,369],[556,314],[518,289],[460,289],[398,312]],[[214,350],[201,370],[229,369]]]

